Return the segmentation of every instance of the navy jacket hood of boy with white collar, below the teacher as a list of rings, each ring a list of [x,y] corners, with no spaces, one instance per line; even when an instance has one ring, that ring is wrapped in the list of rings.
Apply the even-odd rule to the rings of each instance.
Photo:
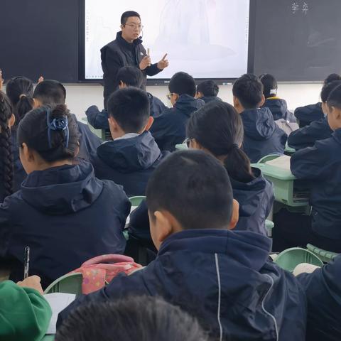
[[[141,171],[153,166],[162,157],[149,131],[129,139],[104,142],[97,148],[97,156],[121,173]]]

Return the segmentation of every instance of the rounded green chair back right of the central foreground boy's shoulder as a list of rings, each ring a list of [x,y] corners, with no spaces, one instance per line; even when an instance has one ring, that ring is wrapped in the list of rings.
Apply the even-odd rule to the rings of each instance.
[[[316,266],[323,266],[323,261],[310,252],[309,250],[302,249],[301,247],[292,247],[286,249],[278,254],[274,262],[281,266],[282,269],[293,272],[293,269],[301,263],[313,264]]]

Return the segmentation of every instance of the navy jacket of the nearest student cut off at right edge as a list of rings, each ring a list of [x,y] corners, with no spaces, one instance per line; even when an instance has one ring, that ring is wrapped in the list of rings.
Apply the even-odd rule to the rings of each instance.
[[[309,180],[310,217],[316,234],[341,242],[341,129],[330,139],[316,141],[313,147],[291,156],[291,172]]]

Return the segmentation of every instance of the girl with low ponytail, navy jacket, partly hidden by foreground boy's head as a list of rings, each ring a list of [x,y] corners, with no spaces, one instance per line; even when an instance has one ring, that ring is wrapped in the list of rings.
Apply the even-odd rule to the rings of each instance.
[[[212,102],[197,110],[187,124],[190,148],[201,149],[220,160],[229,173],[233,197],[239,202],[235,229],[266,234],[265,220],[274,202],[274,190],[242,151],[243,122],[232,105]]]

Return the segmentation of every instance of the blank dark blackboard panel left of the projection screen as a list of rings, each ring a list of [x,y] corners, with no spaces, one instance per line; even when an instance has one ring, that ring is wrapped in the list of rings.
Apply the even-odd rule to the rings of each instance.
[[[78,80],[79,0],[1,0],[4,79]]]

